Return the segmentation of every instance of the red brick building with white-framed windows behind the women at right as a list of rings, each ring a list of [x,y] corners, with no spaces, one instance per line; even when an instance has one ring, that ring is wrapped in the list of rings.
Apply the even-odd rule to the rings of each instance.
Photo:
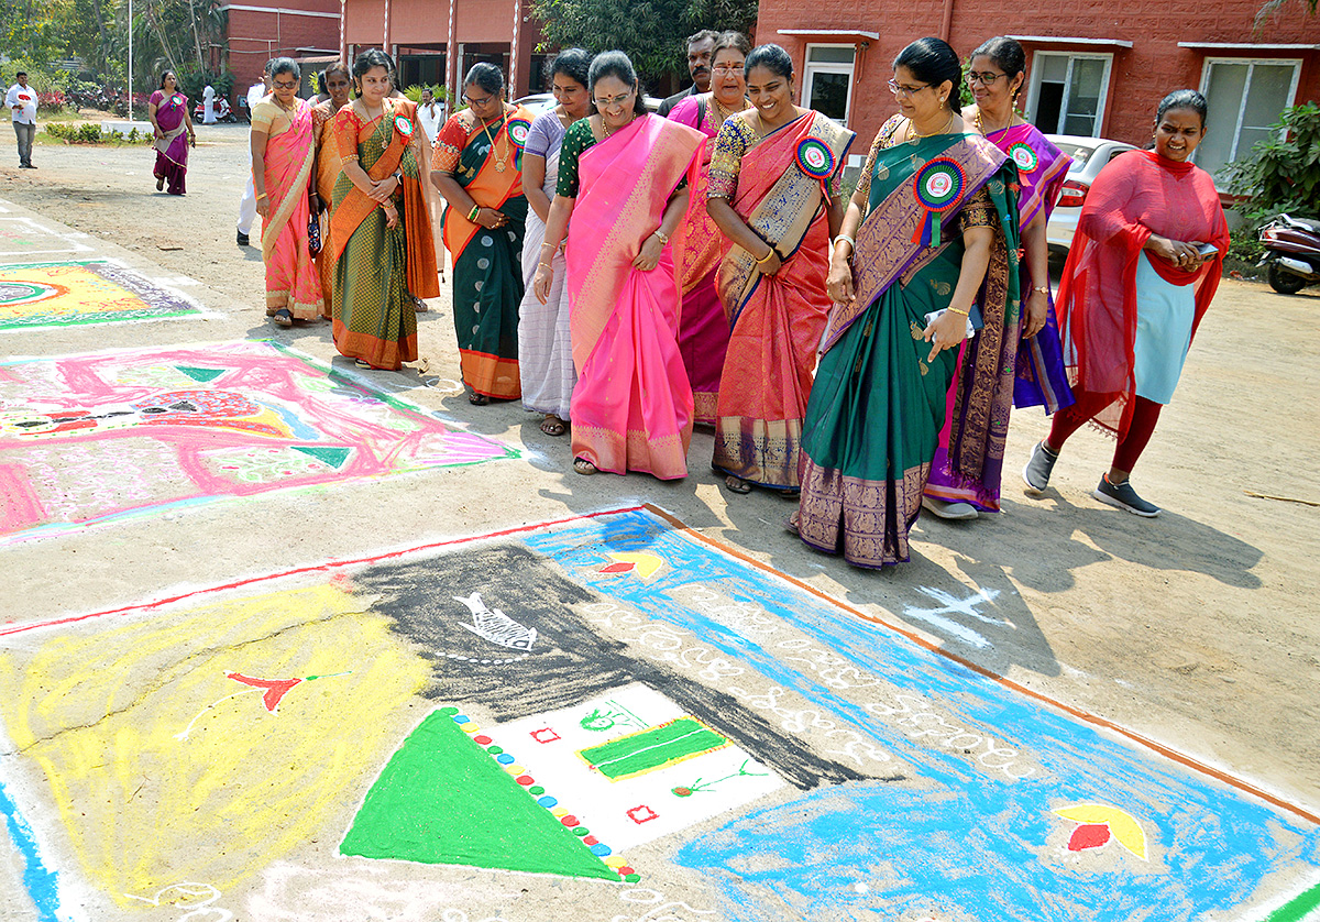
[[[792,55],[801,104],[847,123],[866,153],[896,112],[886,81],[908,42],[939,36],[960,55],[1008,34],[1027,50],[1022,107],[1047,133],[1143,145],[1155,106],[1193,87],[1210,103],[1197,162],[1216,170],[1267,135],[1279,112],[1320,98],[1320,16],[1300,3],[1259,33],[1261,0],[760,0],[756,38]]]

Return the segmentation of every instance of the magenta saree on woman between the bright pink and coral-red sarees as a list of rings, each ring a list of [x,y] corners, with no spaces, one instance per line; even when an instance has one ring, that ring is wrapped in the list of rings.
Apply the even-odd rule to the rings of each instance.
[[[719,133],[719,110],[706,95],[702,118],[698,96],[686,96],[669,110],[669,119],[706,135],[688,169],[692,198],[688,213],[675,234],[675,262],[682,289],[682,316],[678,318],[678,353],[692,383],[696,421],[714,424],[719,399],[719,376],[729,349],[729,321],[715,276],[730,242],[706,213],[710,189],[710,157]]]

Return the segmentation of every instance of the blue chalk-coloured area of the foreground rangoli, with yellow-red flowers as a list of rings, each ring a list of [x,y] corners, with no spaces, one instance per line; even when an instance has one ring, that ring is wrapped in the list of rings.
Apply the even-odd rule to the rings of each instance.
[[[906,775],[903,782],[808,791],[781,807],[743,814],[680,848],[678,864],[722,884],[730,918],[759,921],[781,915],[787,905],[808,919],[891,919],[895,910],[920,910],[946,919],[1192,921],[1250,910],[1269,894],[1302,886],[1320,865],[1320,830],[1307,820],[1018,695],[684,538],[644,511],[523,540],[601,596],[690,630],[702,646],[828,711],[828,719],[895,757],[869,769]],[[598,573],[610,563],[610,551],[645,551],[668,565],[645,583]],[[808,664],[784,662],[809,656],[776,651],[774,634],[758,642],[676,604],[673,593],[692,584],[759,605],[816,638],[843,664],[880,678],[882,686],[851,693],[900,712],[874,715],[846,697],[849,692],[828,687]],[[1014,781],[978,765],[961,746],[913,738],[927,724],[896,723],[904,707],[921,708],[923,701],[950,725],[1016,750],[1019,765],[1035,770]],[[995,757],[991,766],[1005,761]],[[1135,816],[1147,836],[1148,861],[1117,841],[1068,852],[1076,824],[1052,811],[1086,802]]]

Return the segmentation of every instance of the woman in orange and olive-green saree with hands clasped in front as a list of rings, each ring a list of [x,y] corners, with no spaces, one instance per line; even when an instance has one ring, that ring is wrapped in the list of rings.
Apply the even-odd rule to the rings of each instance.
[[[343,173],[334,188],[330,244],[334,345],[359,367],[397,371],[417,358],[409,292],[440,295],[425,181],[429,151],[417,106],[393,98],[393,61],[368,49],[352,65],[358,98],[334,133]]]

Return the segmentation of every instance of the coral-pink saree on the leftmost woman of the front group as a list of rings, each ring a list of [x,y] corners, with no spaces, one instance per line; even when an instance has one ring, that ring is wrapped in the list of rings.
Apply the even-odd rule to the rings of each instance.
[[[265,192],[269,217],[261,225],[265,260],[265,312],[286,308],[297,320],[321,316],[321,276],[308,250],[308,182],[315,147],[312,106],[300,99],[289,129],[265,143]]]

